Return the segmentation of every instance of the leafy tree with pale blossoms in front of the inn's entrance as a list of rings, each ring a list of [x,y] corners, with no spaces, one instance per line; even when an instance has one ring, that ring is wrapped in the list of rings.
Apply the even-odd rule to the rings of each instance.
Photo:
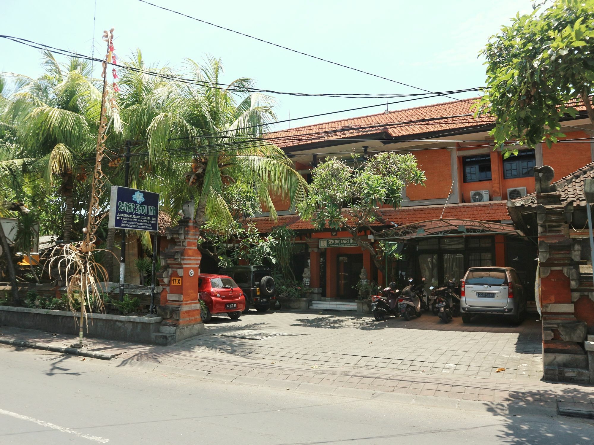
[[[348,231],[381,269],[383,247],[369,242],[364,233],[375,233],[372,224],[377,221],[387,224],[379,207],[397,208],[402,188],[424,181],[425,173],[418,169],[412,154],[384,152],[360,164],[355,159],[354,168],[344,160],[330,158],[312,171],[309,195],[298,205],[298,211],[318,230],[329,227]]]

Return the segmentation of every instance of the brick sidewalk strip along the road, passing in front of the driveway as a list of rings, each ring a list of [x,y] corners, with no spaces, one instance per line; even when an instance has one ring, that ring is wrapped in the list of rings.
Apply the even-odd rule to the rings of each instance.
[[[0,343],[12,347],[36,345],[62,352],[77,341],[73,336],[35,330],[0,327]],[[481,376],[430,374],[385,367],[343,367],[320,360],[320,364],[287,363],[282,360],[242,357],[214,349],[177,344],[170,347],[86,339],[81,349],[87,357],[113,357],[106,361],[118,367],[136,367],[161,373],[176,373],[288,390],[328,393],[361,398],[383,397],[399,403],[491,411],[503,414],[546,414],[594,417],[592,386],[546,383],[527,379],[492,379]],[[66,351],[68,352],[68,351]],[[503,371],[505,373],[505,371]]]

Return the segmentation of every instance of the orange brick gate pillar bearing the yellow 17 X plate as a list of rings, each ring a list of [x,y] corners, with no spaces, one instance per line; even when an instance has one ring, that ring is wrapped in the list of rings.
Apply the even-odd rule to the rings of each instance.
[[[198,275],[201,254],[198,250],[198,227],[194,225],[194,203],[184,204],[184,218],[166,230],[170,240],[161,262],[165,270],[159,276],[162,287],[157,313],[163,317],[156,343],[170,345],[204,332],[198,301]]]

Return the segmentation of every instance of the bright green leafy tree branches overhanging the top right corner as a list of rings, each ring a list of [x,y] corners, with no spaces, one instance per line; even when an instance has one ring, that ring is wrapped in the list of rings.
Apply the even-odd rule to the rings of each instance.
[[[489,39],[486,90],[477,113],[495,116],[495,144],[514,139],[548,147],[564,135],[560,120],[582,102],[594,124],[594,0],[555,0],[535,5]],[[517,154],[517,150],[508,150]]]

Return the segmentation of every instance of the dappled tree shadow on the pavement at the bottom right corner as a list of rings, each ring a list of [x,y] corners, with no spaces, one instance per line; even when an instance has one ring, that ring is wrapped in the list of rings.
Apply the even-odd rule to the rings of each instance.
[[[510,392],[511,399],[510,414],[503,411],[497,403],[485,403],[487,411],[504,418],[504,424],[497,434],[497,443],[502,444],[526,444],[526,445],[549,445],[549,444],[592,444],[594,443],[594,429],[591,419],[567,417],[564,409],[570,404],[589,405],[589,398],[592,398],[592,387],[582,388],[559,388],[554,390]],[[576,400],[570,402],[569,400]],[[586,403],[589,402],[589,403]],[[513,405],[537,405],[548,408],[548,414],[541,411],[541,415],[516,414],[519,412],[530,413],[530,406],[522,411],[514,409]],[[541,408],[542,409],[542,408]],[[558,415],[554,410],[558,409]]]

